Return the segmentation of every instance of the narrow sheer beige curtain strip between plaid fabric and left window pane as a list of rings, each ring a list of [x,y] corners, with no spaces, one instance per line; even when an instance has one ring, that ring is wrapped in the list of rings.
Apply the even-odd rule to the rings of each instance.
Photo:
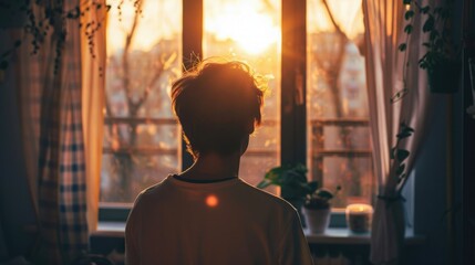
[[[82,24],[94,22],[94,24],[101,23],[101,26],[96,29],[92,38],[89,38],[91,32],[89,29],[91,28],[83,28],[81,32],[82,119],[86,160],[87,226],[90,232],[97,229],[106,59],[105,30],[107,12],[105,0],[96,2],[102,3],[104,8],[86,12],[82,18]],[[86,33],[85,31],[89,32]]]

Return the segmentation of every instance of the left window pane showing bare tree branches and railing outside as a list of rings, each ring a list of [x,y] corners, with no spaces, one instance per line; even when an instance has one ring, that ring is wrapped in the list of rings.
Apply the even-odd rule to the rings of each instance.
[[[110,4],[101,202],[133,202],[179,167],[168,93],[182,71],[182,3]]]

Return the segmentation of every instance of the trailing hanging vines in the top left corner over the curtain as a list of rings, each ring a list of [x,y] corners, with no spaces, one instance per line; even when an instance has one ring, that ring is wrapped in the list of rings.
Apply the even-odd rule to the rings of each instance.
[[[132,1],[132,0],[131,0]],[[133,0],[135,12],[142,12],[141,0]],[[124,0],[118,1],[116,8],[120,11]],[[89,12],[97,12],[105,9],[104,15],[96,20],[89,20],[84,24],[78,23],[82,30],[81,33],[87,39],[89,52],[92,57],[94,54],[94,35],[97,30],[101,29],[105,23],[106,13],[111,10],[111,4],[103,4],[93,0],[81,1],[80,4],[65,10],[64,0],[48,1],[48,0],[23,0],[23,1],[10,1],[0,0],[0,13],[2,15],[10,15],[13,18],[20,18],[22,20],[21,28],[24,31],[23,39],[30,39],[28,42],[31,44],[31,54],[38,54],[41,45],[44,43],[44,39],[54,34],[53,38],[55,45],[55,57],[54,57],[54,74],[58,72],[58,67],[61,61],[61,52],[64,46],[65,39],[68,35],[66,22],[69,20],[81,20],[87,17]],[[3,18],[4,19],[4,18]],[[0,29],[1,30],[1,29]],[[9,59],[13,52],[27,43],[24,40],[17,40],[11,49],[8,49],[0,54],[0,75],[9,67]]]

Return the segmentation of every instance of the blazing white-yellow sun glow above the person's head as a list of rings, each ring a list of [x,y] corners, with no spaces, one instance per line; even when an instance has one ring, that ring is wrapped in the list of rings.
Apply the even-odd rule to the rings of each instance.
[[[280,26],[269,12],[252,7],[252,1],[235,1],[205,20],[205,30],[218,41],[233,40],[256,55],[280,40]]]

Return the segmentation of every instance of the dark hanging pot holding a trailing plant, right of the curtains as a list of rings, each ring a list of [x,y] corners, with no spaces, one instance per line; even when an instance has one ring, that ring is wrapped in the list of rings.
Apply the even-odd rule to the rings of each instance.
[[[458,91],[462,64],[458,60],[441,60],[427,72],[432,93],[452,94]]]

